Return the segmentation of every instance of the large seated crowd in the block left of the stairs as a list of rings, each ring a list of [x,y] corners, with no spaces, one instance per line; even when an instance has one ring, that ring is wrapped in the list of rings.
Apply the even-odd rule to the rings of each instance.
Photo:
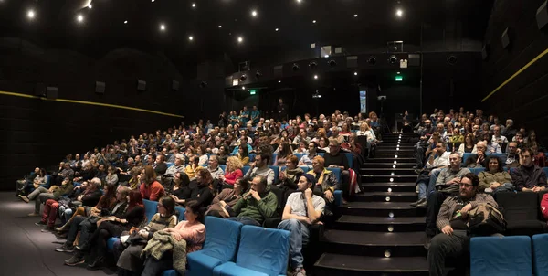
[[[256,107],[230,114],[221,114],[217,126],[182,122],[74,158],[68,154],[51,175],[37,168],[17,196],[35,201],[29,216],[41,216],[42,232],[66,239],[56,249],[72,254],[66,265],[90,260],[89,269],[100,268],[107,240],[130,235],[131,242],[112,249],[119,273],[158,275],[181,267],[185,256],[175,250],[181,240],[185,252],[201,249],[205,215],[259,227],[280,218],[273,227],[290,231],[290,271],[305,275],[301,250],[310,227],[334,207],[336,190],[345,198],[353,194],[359,170],[345,154],[359,168],[364,154],[381,143],[378,118],[374,112],[353,118],[335,111],[265,120]],[[158,202],[153,218],[145,218],[143,200]],[[185,207],[186,220],[177,221],[176,206]],[[174,250],[157,258],[163,235],[171,237]]]

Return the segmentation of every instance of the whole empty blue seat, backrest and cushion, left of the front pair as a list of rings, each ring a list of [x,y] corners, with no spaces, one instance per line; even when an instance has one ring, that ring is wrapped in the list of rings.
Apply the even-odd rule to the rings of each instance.
[[[242,224],[236,221],[205,217],[204,248],[189,253],[187,275],[213,275],[216,266],[235,261]]]

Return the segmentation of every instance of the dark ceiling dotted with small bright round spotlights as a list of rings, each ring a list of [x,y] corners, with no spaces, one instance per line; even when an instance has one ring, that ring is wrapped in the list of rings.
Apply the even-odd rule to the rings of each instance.
[[[421,22],[435,27],[458,20],[463,37],[482,40],[490,5],[492,0],[0,0],[0,31],[94,57],[130,47],[163,51],[176,63],[223,54],[237,62],[280,56],[314,42],[418,45]],[[401,17],[395,15],[398,8]],[[26,16],[30,9],[32,20]],[[258,15],[251,16],[252,10]]]

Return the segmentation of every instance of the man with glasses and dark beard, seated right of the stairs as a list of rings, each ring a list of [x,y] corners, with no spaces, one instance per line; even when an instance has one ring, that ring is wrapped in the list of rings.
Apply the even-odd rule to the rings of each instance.
[[[444,275],[446,257],[462,256],[469,249],[469,211],[483,203],[498,207],[492,196],[478,193],[478,186],[478,175],[466,174],[460,178],[458,196],[448,197],[443,202],[436,221],[441,233],[432,239],[428,250],[431,276]]]

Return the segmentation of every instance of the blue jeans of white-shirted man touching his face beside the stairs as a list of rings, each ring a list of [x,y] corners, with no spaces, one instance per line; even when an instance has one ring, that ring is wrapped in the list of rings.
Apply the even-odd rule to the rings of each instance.
[[[291,268],[302,268],[304,259],[302,258],[302,245],[308,242],[310,231],[307,225],[295,218],[282,220],[279,229],[288,230],[290,234],[290,258]]]

